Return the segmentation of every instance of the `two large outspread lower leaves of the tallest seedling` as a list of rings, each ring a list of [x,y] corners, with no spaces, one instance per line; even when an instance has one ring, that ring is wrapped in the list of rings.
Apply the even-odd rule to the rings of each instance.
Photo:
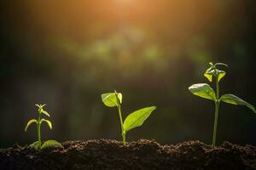
[[[192,94],[200,96],[201,98],[212,99],[213,101],[217,102],[214,90],[207,83],[194,84],[189,87],[189,91]],[[223,96],[220,97],[219,101],[224,101],[225,103],[229,103],[233,105],[246,105],[254,113],[256,113],[253,105],[247,103],[243,99],[240,99],[234,94],[224,94]]]

